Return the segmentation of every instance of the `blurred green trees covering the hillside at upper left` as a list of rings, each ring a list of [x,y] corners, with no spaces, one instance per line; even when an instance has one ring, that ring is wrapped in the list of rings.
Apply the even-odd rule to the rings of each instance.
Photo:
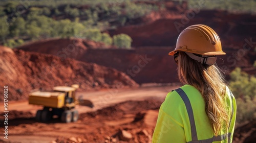
[[[93,5],[91,1],[84,1],[84,4],[90,4],[87,8],[71,5],[73,3],[68,3],[69,1],[63,2],[66,5],[59,5],[58,1],[49,1],[49,3],[44,1],[47,2],[44,3],[45,5],[40,2],[42,1],[30,2],[28,7],[24,7],[25,4],[20,5],[16,1],[0,6],[2,43],[14,47],[22,44],[24,40],[79,37],[111,45],[112,37],[102,31],[115,28],[118,25],[123,26],[129,19],[144,16],[148,12],[158,9],[156,6],[134,4],[129,1],[123,1],[122,5],[101,3],[97,6]],[[58,4],[57,6],[46,7],[55,2]],[[131,37],[126,39],[125,42],[132,41]],[[120,44],[116,46],[120,47]],[[125,47],[130,48],[131,43],[126,43]]]

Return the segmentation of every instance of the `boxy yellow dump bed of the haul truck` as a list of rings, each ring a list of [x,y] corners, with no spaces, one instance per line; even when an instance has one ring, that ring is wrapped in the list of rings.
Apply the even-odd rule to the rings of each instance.
[[[29,104],[52,108],[62,108],[65,103],[65,93],[35,91],[29,94]]]

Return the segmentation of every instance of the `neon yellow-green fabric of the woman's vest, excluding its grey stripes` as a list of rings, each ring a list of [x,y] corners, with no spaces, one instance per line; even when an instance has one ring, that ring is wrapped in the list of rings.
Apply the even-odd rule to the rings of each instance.
[[[205,104],[201,93],[191,85],[184,85],[181,89],[187,94],[193,108],[198,140],[213,137],[214,132],[211,129],[208,116],[205,113]],[[227,110],[230,111],[230,118],[231,106],[233,104],[233,118],[229,128],[229,132],[233,135],[234,123],[236,122],[236,100],[234,98],[233,101],[231,100],[228,88],[226,89],[226,97],[225,104],[227,104]],[[224,134],[224,132],[220,134]],[[152,142],[182,143],[191,140],[190,123],[185,104],[176,91],[169,92],[159,109]],[[227,139],[215,142],[227,142]]]

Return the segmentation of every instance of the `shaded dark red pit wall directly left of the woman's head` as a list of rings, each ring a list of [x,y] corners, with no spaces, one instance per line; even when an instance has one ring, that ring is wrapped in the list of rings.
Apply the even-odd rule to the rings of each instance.
[[[137,83],[175,83],[177,65],[168,56],[171,47],[143,47],[136,50],[89,49],[80,61],[116,68]]]

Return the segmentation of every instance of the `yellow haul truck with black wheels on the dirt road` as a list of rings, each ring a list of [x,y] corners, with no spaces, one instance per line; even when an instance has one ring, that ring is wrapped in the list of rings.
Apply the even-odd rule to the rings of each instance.
[[[79,85],[56,86],[53,91],[35,91],[29,94],[29,104],[42,105],[44,109],[36,112],[36,120],[41,122],[50,121],[53,115],[57,115],[62,122],[76,122],[78,111],[75,105],[93,107],[89,100],[76,100],[75,91]]]

